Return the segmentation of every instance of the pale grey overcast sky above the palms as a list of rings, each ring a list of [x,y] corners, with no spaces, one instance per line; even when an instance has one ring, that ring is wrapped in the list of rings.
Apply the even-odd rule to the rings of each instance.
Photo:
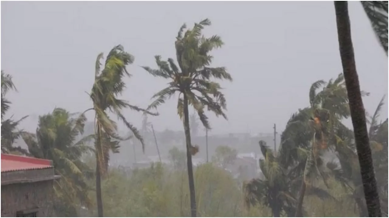
[[[352,40],[361,88],[373,113],[388,92],[388,59],[359,2],[349,2]],[[283,130],[298,108],[308,106],[310,85],[342,72],[335,9],[327,2],[1,2],[1,69],[12,74],[19,92],[10,92],[15,118],[33,131],[37,116],[63,107],[91,107],[91,89],[100,52],[117,44],[135,56],[123,99],[146,107],[166,81],[139,66],[155,67],[154,55],[175,59],[180,26],[212,21],[205,35],[220,35],[224,47],[213,66],[225,66],[233,83],[222,83],[228,121],[210,115],[214,133]],[[387,102],[387,101],[385,101]],[[182,130],[176,99],[150,118],[158,130]],[[383,117],[387,117],[387,105]],[[140,127],[141,114],[126,116]],[[93,118],[89,114],[88,118]]]

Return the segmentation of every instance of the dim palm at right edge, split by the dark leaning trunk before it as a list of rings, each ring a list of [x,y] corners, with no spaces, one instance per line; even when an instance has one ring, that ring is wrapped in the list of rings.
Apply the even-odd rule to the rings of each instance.
[[[372,150],[374,170],[377,173],[377,184],[380,193],[382,205],[387,205],[387,120],[378,123],[380,110],[384,104],[383,97],[377,106],[373,116],[368,123],[370,147]],[[352,130],[349,130],[352,133]],[[368,216],[366,204],[363,200],[363,185],[361,183],[361,173],[358,164],[358,155],[356,146],[353,142],[352,134],[338,133],[335,142],[335,151],[338,155],[339,165],[337,163],[328,163],[327,167],[332,171],[335,179],[342,183],[343,187],[351,193],[359,209],[360,216]],[[382,208],[387,214],[387,208]]]

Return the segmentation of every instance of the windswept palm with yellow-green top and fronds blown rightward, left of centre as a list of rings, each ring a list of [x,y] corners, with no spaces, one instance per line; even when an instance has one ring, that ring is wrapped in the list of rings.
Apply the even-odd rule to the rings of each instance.
[[[113,112],[132,131],[133,135],[141,142],[143,151],[144,143],[142,136],[137,128],[127,121],[121,109],[130,108],[131,110],[156,115],[138,106],[128,104],[125,100],[117,99],[124,88],[126,88],[123,77],[131,76],[126,70],[126,66],[133,63],[134,57],[125,52],[123,46],[117,45],[110,50],[104,68],[100,70],[100,60],[102,58],[103,53],[100,53],[95,64],[95,82],[89,94],[93,101],[93,108],[86,110],[95,111],[96,200],[98,216],[103,216],[101,176],[105,175],[108,169],[109,151],[118,152],[119,141],[130,138],[120,137],[117,134],[116,123],[110,119],[108,112]]]

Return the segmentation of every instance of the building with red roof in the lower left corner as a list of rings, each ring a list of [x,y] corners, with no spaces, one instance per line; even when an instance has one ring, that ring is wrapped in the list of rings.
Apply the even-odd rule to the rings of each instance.
[[[1,154],[1,216],[53,215],[53,162]]]

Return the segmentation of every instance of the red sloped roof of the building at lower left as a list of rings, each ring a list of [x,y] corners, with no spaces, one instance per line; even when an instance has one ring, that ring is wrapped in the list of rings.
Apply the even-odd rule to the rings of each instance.
[[[1,172],[18,170],[36,170],[51,168],[50,160],[25,157],[12,154],[1,154]]]

